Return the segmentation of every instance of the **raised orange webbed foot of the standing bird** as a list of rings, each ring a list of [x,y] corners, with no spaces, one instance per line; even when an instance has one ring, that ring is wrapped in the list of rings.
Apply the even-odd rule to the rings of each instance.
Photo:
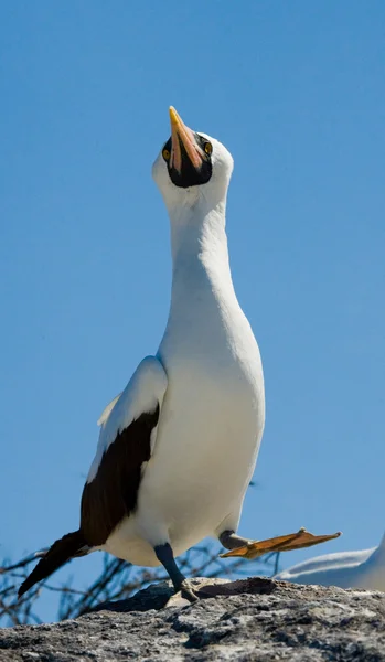
[[[228,556],[243,556],[244,558],[253,559],[264,554],[271,554],[272,552],[292,552],[293,549],[301,549],[303,547],[312,547],[320,543],[327,543],[341,535],[341,532],[332,533],[329,535],[313,535],[306,528],[301,527],[296,533],[289,533],[286,535],[278,535],[266,541],[253,541],[235,549],[231,549],[225,554],[221,554],[221,558],[227,558]]]

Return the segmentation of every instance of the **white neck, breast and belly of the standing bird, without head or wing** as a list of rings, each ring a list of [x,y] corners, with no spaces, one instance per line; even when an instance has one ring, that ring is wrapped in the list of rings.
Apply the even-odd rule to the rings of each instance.
[[[138,509],[107,541],[110,553],[158,565],[153,545],[178,556],[205,536],[236,530],[264,421],[258,345],[234,292],[226,236],[213,249],[197,224],[195,246],[174,259],[171,310],[158,352],[168,386]],[[195,248],[195,249],[193,249]]]

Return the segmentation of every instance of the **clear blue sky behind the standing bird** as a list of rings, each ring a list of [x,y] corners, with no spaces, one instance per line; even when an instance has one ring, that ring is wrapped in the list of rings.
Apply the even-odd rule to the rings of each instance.
[[[0,556],[77,527],[96,420],[158,348],[170,250],[151,164],[170,104],[235,159],[231,260],[267,395],[240,533],[375,545],[383,0],[2,0],[0,14]],[[98,567],[57,578],[85,585]]]

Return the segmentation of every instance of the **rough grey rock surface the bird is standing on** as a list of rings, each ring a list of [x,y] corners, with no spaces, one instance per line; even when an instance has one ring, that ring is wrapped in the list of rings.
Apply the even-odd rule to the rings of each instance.
[[[165,584],[76,620],[0,630],[1,662],[385,661],[385,594],[250,578]]]

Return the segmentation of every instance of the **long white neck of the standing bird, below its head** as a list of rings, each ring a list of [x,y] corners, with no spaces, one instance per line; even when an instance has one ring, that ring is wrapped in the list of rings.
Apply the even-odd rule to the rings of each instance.
[[[218,338],[223,311],[238,307],[228,264],[225,202],[171,216],[172,288],[162,351],[194,338]],[[192,330],[195,329],[195,332]],[[216,331],[215,331],[216,330]]]

